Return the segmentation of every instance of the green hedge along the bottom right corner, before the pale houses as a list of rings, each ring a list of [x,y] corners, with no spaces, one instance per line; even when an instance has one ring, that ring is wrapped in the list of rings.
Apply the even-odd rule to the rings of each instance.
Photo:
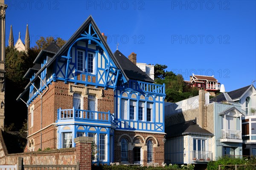
[[[209,161],[207,164],[207,170],[218,170],[218,165],[226,165],[226,166],[221,166],[222,170],[235,169],[234,166],[228,166],[228,165],[246,165],[246,166],[238,166],[238,170],[256,170],[253,164],[256,164],[255,157],[251,157],[251,158],[223,157],[223,158],[218,158],[216,161]]]

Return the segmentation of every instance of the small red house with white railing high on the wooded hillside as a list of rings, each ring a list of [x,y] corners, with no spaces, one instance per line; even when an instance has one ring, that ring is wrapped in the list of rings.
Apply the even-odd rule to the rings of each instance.
[[[189,81],[184,81],[187,86],[197,87],[198,89],[203,88],[210,95],[215,96],[215,92],[220,90],[220,83],[214,78],[214,76],[206,75],[194,75],[190,76]]]

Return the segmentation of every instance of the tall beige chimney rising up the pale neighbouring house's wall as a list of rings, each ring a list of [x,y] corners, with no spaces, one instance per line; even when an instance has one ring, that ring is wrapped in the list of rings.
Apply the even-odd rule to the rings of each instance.
[[[204,89],[199,89],[199,116],[198,116],[198,125],[204,129],[204,118],[205,118],[205,112],[204,112],[204,103],[205,103],[205,97],[204,97]]]

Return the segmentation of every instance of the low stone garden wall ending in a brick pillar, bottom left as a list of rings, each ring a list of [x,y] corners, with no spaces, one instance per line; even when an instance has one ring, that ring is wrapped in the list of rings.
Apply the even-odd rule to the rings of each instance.
[[[74,141],[75,148],[8,154],[0,130],[0,165],[15,165],[18,164],[19,158],[23,158],[24,165],[77,165],[79,162],[80,170],[91,170],[93,138],[79,137]]]

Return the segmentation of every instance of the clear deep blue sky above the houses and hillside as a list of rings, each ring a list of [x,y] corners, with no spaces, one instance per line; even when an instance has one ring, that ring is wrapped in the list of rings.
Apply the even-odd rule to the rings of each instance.
[[[209,75],[232,91],[256,80],[255,0],[5,0],[10,26],[31,46],[40,36],[68,40],[91,14],[108,45],[137,62],[183,75]],[[256,83],[254,83],[254,86]]]

